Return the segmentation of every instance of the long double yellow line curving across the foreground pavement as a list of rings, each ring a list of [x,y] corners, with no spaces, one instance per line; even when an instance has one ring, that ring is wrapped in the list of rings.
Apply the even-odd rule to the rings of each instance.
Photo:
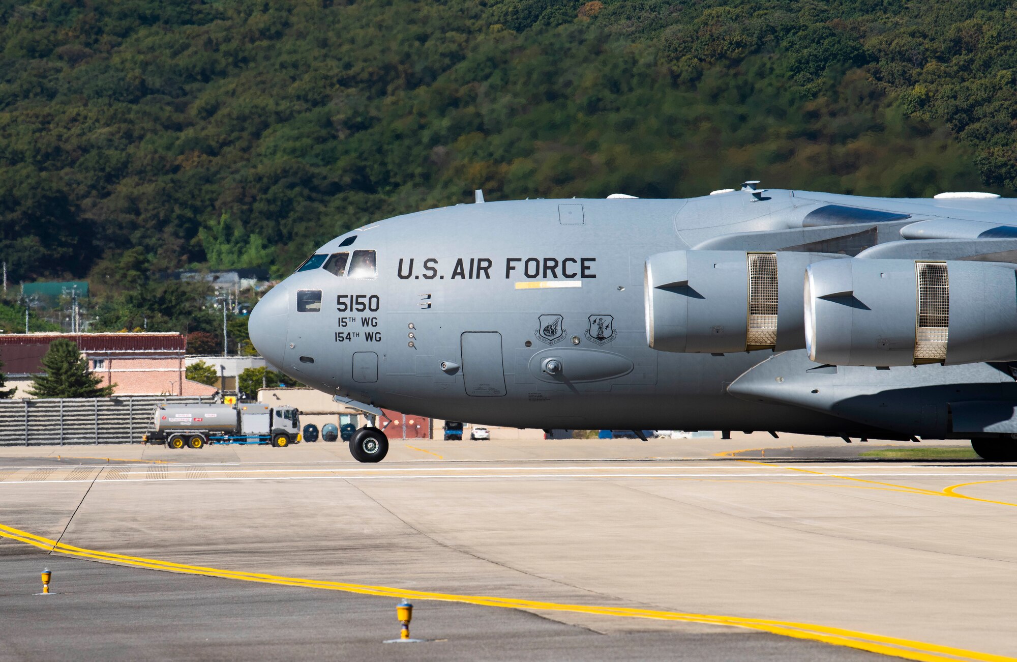
[[[348,584],[344,582],[330,582],[323,580],[307,580],[277,574],[263,574],[259,572],[224,570],[200,565],[172,563],[170,561],[160,561],[139,556],[128,556],[125,554],[115,554],[112,552],[102,552],[81,547],[74,547],[73,545],[67,545],[66,543],[61,543],[50,538],[44,538],[42,536],[37,536],[35,534],[3,525],[0,525],[0,538],[6,538],[24,543],[26,545],[32,545],[51,553],[67,554],[69,556],[77,556],[95,561],[118,563],[153,570],[215,576],[227,580],[241,580],[244,582],[257,582],[261,584],[304,587],[310,589],[324,589],[330,591],[344,591],[347,593],[358,593],[363,595],[384,596],[392,598],[414,598],[417,600],[459,602],[487,607],[501,607],[505,609],[562,611],[583,614],[597,614],[602,616],[622,616],[629,618],[651,618],[657,620],[707,623],[712,625],[731,625],[735,627],[746,627],[750,629],[771,632],[774,635],[792,637],[795,639],[823,642],[834,646],[844,646],[872,653],[891,655],[906,660],[918,660],[920,662],[957,662],[958,660],[969,662],[1017,661],[1017,658],[993,655],[991,653],[979,653],[976,651],[968,651],[949,646],[939,646],[936,644],[926,644],[924,642],[915,642],[895,637],[885,637],[871,632],[860,632],[841,627],[828,627],[826,625],[799,623],[794,621],[744,618],[739,616],[723,616],[714,614],[695,614],[676,611],[658,611],[653,609],[638,609],[630,607],[571,605],[555,602],[520,600],[515,598],[498,598],[492,596],[467,596],[446,593],[431,593],[392,587]]]

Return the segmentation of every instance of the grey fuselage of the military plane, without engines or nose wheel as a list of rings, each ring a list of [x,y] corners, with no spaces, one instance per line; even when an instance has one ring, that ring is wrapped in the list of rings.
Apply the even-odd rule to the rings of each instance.
[[[328,393],[521,428],[967,438],[951,430],[949,401],[1013,398],[1013,378],[986,364],[880,370],[821,366],[803,349],[651,348],[652,255],[773,232],[855,255],[901,238],[897,209],[914,222],[968,204],[750,192],[457,205],[373,223],[315,252],[348,254],[342,275],[312,258],[272,289],[251,314],[251,339],[273,366]],[[1010,201],[994,202],[1013,214]],[[883,225],[855,219],[864,231],[845,235],[835,217],[818,230],[805,220],[837,205],[884,210]]]

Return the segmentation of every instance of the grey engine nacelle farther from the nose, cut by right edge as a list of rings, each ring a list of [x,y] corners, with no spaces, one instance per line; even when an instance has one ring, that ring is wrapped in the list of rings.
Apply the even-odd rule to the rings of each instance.
[[[838,260],[805,270],[805,346],[838,366],[913,366],[1017,357],[1010,265]]]

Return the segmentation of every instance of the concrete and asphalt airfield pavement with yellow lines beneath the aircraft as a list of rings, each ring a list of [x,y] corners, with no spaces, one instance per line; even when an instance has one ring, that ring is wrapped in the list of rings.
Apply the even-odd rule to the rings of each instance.
[[[734,437],[0,447],[0,660],[1017,657],[1017,464]]]

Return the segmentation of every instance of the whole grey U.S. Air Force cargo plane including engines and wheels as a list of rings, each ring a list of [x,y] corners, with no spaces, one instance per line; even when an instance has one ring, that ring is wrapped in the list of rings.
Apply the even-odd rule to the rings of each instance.
[[[750,181],[476,202],[328,241],[255,307],[254,346],[367,411],[969,439],[1017,459],[1015,200]],[[350,448],[379,461],[387,440],[361,428]]]

